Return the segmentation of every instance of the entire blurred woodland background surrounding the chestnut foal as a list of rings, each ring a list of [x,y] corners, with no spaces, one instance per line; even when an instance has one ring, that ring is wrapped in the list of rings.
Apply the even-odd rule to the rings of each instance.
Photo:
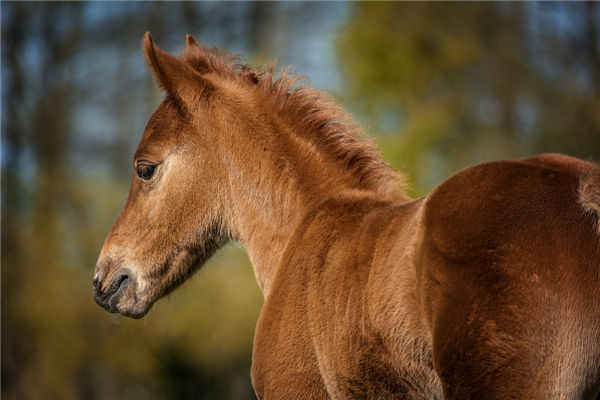
[[[2,2],[2,397],[251,399],[262,294],[228,245],[142,320],[91,276],[185,34],[350,109],[422,196],[466,166],[600,159],[600,3]]]

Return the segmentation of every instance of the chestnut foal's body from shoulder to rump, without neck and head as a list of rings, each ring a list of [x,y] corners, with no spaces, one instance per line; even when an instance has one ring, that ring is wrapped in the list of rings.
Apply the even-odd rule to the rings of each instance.
[[[266,299],[258,393],[430,399],[443,382],[446,398],[594,398],[600,254],[578,201],[589,173],[541,156],[465,170],[412,202],[320,205]]]

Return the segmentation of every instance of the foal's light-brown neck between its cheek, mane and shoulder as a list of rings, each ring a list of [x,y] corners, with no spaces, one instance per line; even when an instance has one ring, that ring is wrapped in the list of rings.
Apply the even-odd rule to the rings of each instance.
[[[261,132],[251,136],[249,132]],[[226,169],[234,236],[246,248],[265,298],[296,227],[309,210],[351,188],[339,169],[277,118],[236,133]],[[245,136],[245,143],[239,143]],[[348,182],[346,182],[348,180]]]

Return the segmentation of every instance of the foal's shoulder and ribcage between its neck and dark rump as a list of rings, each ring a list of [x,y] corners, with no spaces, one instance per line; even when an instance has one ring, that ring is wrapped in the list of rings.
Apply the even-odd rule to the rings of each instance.
[[[401,287],[412,285],[393,266],[406,263],[406,246],[398,243],[411,242],[402,239],[413,235],[407,226],[414,222],[417,203],[337,199],[305,218],[261,313],[253,375],[277,371],[271,380],[281,382],[296,371],[288,377],[289,387],[320,377],[316,386],[334,398],[427,398],[435,381],[431,360],[407,359],[418,353],[408,348],[418,338],[406,332],[398,337],[410,319]],[[406,353],[401,360],[394,354],[399,349]],[[421,361],[428,365],[413,374]]]

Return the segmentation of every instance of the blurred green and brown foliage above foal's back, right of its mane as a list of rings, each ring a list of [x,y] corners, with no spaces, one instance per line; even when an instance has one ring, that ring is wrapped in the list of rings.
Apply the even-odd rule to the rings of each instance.
[[[598,159],[599,8],[358,3],[338,40],[342,98],[409,174],[413,195],[493,159]]]

